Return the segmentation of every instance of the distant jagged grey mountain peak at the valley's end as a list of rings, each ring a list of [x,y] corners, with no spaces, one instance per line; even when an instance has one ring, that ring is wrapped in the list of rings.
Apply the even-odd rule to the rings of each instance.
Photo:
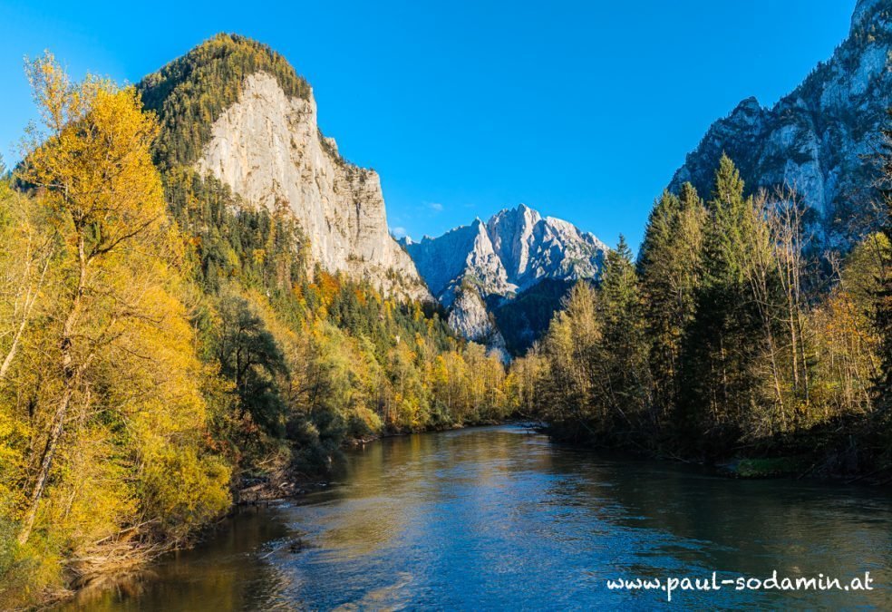
[[[538,336],[541,319],[550,320],[572,281],[598,276],[607,252],[594,234],[524,204],[439,238],[404,238],[402,245],[433,296],[450,308],[452,329],[514,353]],[[546,280],[555,282],[538,299],[519,299]],[[535,305],[536,314],[526,316],[523,304]]]

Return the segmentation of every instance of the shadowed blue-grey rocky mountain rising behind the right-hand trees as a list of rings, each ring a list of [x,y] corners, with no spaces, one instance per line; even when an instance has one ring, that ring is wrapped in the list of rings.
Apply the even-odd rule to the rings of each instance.
[[[794,188],[819,213],[827,238],[847,238],[863,218],[879,130],[892,105],[892,3],[859,0],[848,38],[771,108],[748,98],[715,121],[674,174],[703,194],[725,151],[748,189]]]

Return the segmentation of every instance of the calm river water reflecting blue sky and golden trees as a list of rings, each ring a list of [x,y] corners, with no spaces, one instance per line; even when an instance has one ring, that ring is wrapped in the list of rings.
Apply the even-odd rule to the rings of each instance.
[[[299,540],[299,544],[297,543]],[[722,579],[852,578],[873,590],[776,591]],[[711,591],[616,590],[684,578]],[[826,578],[825,578],[826,579]],[[732,481],[607,459],[514,426],[427,433],[349,452],[296,502],[238,514],[198,549],[70,608],[892,609],[892,496]]]

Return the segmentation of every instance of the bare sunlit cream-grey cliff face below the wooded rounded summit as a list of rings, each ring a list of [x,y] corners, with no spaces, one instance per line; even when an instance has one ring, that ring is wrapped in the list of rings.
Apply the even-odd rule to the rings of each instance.
[[[320,134],[312,96],[288,98],[266,73],[247,77],[238,102],[215,121],[197,166],[251,205],[286,203],[314,263],[394,295],[430,298],[388,233],[377,173],[344,161],[334,139]]]

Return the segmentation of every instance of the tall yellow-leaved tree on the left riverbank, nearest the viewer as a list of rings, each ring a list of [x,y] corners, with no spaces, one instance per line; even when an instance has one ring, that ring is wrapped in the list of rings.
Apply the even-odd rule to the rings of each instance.
[[[178,298],[181,239],[151,161],[157,121],[132,88],[72,83],[51,54],[28,75],[45,131],[32,132],[21,179],[62,254],[28,342],[39,384],[16,378],[34,404],[17,539],[28,542],[39,517],[70,528],[74,548],[143,522],[177,539],[228,506],[228,469],[202,452],[205,373]],[[159,478],[171,471],[188,489]],[[92,484],[77,475],[101,472]],[[47,496],[51,484],[60,494]]]

